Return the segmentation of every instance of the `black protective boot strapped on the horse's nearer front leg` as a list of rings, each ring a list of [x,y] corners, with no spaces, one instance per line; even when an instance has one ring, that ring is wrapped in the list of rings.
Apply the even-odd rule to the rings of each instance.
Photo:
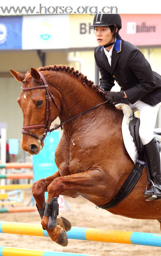
[[[58,198],[53,197],[50,199],[49,203],[46,203],[44,216],[49,217],[49,221],[47,224],[48,229],[53,229],[57,225],[57,216],[59,214],[59,204]]]

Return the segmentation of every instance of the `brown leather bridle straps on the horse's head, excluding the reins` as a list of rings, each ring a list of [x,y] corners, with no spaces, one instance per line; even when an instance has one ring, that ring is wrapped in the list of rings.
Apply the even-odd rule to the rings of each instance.
[[[43,141],[47,135],[47,132],[50,131],[50,125],[52,122],[52,100],[54,101],[55,106],[57,107],[59,113],[60,113],[60,108],[59,108],[53,94],[49,91],[48,84],[47,84],[44,76],[42,75],[41,72],[38,71],[38,73],[39,73],[40,77],[42,78],[44,85],[39,85],[39,86],[34,86],[34,87],[29,87],[29,88],[24,88],[23,86],[21,86],[21,89],[23,91],[30,91],[30,90],[36,90],[36,89],[45,89],[46,90],[46,114],[45,114],[44,124],[22,126],[22,129],[23,129],[22,133],[29,134],[29,135]],[[39,128],[46,129],[43,136],[40,136],[40,135],[37,135],[35,133],[28,131],[28,130],[39,129]]]

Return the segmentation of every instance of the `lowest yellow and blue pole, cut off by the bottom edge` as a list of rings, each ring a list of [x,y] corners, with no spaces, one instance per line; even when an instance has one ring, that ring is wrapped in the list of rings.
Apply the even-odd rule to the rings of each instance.
[[[49,252],[0,246],[0,256],[92,256],[78,253]],[[97,256],[97,255],[93,255]]]

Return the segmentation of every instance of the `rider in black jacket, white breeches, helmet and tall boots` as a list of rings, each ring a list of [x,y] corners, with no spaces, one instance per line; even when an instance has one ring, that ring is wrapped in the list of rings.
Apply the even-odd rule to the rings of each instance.
[[[97,14],[94,16],[94,33],[98,47],[94,52],[100,70],[100,88],[107,92],[109,103],[122,100],[135,112],[140,113],[139,135],[144,146],[150,178],[156,186],[157,198],[161,197],[161,163],[159,148],[153,135],[157,113],[161,102],[161,76],[152,71],[141,51],[119,35],[119,14]],[[111,92],[114,80],[120,92]],[[144,197],[151,199],[155,194],[151,185]]]

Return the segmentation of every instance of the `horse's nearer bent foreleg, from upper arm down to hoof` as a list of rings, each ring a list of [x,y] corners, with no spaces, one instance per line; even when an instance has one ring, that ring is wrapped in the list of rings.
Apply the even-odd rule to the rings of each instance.
[[[105,181],[103,173],[99,170],[88,170],[68,176],[58,177],[48,186],[48,198],[45,207],[42,226],[47,230],[50,238],[58,244],[65,246],[68,243],[67,235],[63,228],[57,223],[58,212],[57,198],[65,190],[89,194],[100,197],[105,193]]]

